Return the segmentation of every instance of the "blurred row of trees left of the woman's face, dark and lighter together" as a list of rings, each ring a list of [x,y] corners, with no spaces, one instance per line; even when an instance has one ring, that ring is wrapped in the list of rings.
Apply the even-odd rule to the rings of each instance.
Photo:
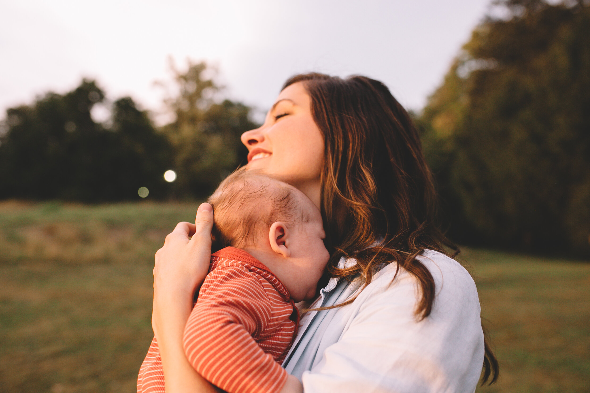
[[[204,62],[172,68],[176,95],[166,100],[175,120],[155,127],[130,97],[108,104],[96,81],[66,94],[47,93],[9,108],[0,130],[0,199],[106,202],[204,197],[245,161],[244,131],[256,128],[251,108],[214,100],[221,88]],[[208,72],[209,71],[209,72]],[[110,120],[93,120],[97,105]],[[164,180],[174,170],[173,183]]]

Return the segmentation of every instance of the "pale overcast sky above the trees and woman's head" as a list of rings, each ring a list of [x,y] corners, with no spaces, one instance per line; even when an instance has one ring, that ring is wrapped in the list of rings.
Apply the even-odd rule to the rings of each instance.
[[[168,57],[217,64],[227,95],[266,110],[290,75],[363,74],[421,109],[489,0],[0,0],[0,110],[96,78],[162,110]]]

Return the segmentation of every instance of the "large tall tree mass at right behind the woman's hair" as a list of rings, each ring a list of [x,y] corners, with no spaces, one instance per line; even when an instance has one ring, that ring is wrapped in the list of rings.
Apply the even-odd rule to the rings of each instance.
[[[590,255],[590,6],[496,2],[418,118],[449,235]]]

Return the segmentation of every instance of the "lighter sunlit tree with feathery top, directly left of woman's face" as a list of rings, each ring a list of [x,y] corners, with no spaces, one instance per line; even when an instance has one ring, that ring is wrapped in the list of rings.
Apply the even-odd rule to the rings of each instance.
[[[205,62],[188,62],[186,71],[172,67],[178,95],[166,101],[175,121],[163,127],[173,146],[179,197],[204,197],[227,174],[245,163],[247,149],[240,136],[258,127],[251,108],[230,100],[218,102],[222,90]]]

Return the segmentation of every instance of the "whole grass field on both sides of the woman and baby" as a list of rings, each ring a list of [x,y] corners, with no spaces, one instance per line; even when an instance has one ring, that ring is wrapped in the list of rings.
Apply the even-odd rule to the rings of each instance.
[[[153,253],[195,204],[0,203],[0,392],[133,392],[152,330]],[[490,250],[477,275],[500,381],[590,392],[590,263]]]

